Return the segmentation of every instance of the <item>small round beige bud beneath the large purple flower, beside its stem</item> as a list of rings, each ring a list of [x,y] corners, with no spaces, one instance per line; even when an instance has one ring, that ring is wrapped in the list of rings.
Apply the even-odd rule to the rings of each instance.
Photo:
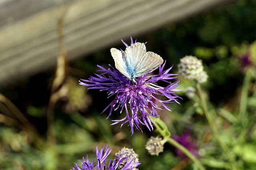
[[[151,136],[146,143],[146,150],[150,155],[157,155],[160,152],[164,152],[164,144],[161,142],[162,138]]]

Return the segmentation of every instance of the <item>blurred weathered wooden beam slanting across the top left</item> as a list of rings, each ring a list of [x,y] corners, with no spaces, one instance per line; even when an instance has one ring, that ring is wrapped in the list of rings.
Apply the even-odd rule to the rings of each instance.
[[[64,24],[68,59],[232,0],[72,0]],[[56,64],[54,0],[0,2],[0,85]]]

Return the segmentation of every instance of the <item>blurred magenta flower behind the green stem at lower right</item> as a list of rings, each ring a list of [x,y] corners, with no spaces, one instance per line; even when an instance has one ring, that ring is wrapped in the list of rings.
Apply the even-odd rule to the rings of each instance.
[[[194,144],[192,137],[190,136],[190,132],[188,130],[184,132],[182,136],[173,136],[172,138],[176,140],[179,144],[184,146],[186,149],[188,149],[194,156],[198,156],[196,144]],[[175,152],[180,158],[187,158],[187,156],[178,148],[175,148]]]

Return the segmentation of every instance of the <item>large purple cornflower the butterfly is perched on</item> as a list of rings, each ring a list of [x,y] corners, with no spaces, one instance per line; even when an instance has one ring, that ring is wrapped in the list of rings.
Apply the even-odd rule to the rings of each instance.
[[[132,44],[133,40],[131,37],[131,45]],[[129,48],[126,43],[124,43],[124,45],[126,45],[126,49]],[[124,53],[126,50],[121,51]],[[123,122],[122,125],[124,125],[124,123],[128,122],[131,127],[132,134],[134,132],[134,127],[141,130],[139,127],[140,124],[145,125],[149,130],[153,130],[152,123],[154,122],[151,120],[151,117],[158,117],[156,109],[164,110],[158,105],[162,105],[166,110],[171,111],[171,108],[167,106],[166,103],[173,103],[173,101],[178,103],[177,100],[180,98],[174,93],[175,91],[180,91],[176,89],[176,87],[180,85],[178,84],[179,79],[174,83],[170,82],[171,79],[178,78],[178,74],[169,73],[172,67],[164,70],[165,63],[162,66],[159,66],[159,73],[157,75],[147,76],[145,74],[132,79],[124,76],[111,65],[109,65],[109,69],[105,69],[104,67],[97,65],[100,68],[98,71],[103,73],[95,73],[95,77],[90,76],[88,80],[81,79],[79,82],[80,85],[89,87],[88,89],[100,89],[101,91],[106,90],[108,97],[114,96],[114,100],[106,107],[106,109],[110,107],[108,117],[110,117],[113,110],[120,108],[120,113],[122,113],[122,110],[125,109],[126,115],[124,118],[121,120],[112,120],[114,123],[111,125],[115,125],[120,122]],[[152,71],[150,71],[150,73],[151,72]],[[166,87],[162,87],[156,84],[158,81],[163,81],[168,83],[168,85]],[[157,95],[165,96],[167,99],[158,99],[156,97]],[[106,111],[106,109],[104,109],[104,111]]]

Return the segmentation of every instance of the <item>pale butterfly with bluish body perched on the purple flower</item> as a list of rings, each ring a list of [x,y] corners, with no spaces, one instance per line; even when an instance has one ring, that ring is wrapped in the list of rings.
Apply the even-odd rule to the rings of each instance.
[[[110,52],[116,69],[131,80],[149,73],[164,62],[160,55],[146,52],[146,45],[140,42],[130,45],[123,52],[116,48],[111,48]]]

